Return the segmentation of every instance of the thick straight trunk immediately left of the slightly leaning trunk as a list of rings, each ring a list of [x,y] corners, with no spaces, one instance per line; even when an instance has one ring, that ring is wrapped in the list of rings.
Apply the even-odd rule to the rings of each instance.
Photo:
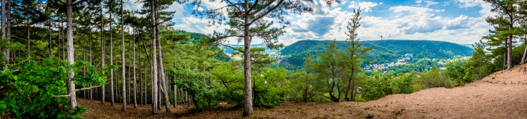
[[[158,66],[158,61],[157,61],[157,56],[155,55],[155,50],[156,50],[156,46],[155,46],[155,25],[157,25],[157,22],[155,21],[155,14],[154,14],[154,11],[155,11],[155,7],[154,7],[154,0],[150,0],[150,18],[151,18],[151,40],[152,40],[152,113],[153,114],[158,114],[158,69],[157,69],[157,66]]]

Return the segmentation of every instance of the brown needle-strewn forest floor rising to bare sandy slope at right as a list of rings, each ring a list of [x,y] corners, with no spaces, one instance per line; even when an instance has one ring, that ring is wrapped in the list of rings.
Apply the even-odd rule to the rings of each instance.
[[[527,75],[519,72],[527,64],[496,72],[453,89],[431,88],[411,94],[392,94],[369,102],[297,103],[285,102],[272,109],[255,108],[255,114],[241,117],[243,109],[222,109],[189,113],[191,107],[172,107],[172,113],[151,115],[150,105],[122,105],[78,99],[87,107],[86,118],[527,118]]]

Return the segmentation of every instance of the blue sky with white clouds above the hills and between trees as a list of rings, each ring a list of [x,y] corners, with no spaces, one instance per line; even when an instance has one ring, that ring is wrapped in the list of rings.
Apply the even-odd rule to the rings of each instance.
[[[140,9],[140,3],[129,1],[124,8]],[[314,0],[312,13],[292,14],[291,24],[279,41],[290,45],[298,40],[344,40],[347,21],[353,10],[360,6],[362,27],[358,36],[362,40],[412,39],[441,40],[458,44],[472,44],[488,34],[492,28],[485,18],[493,16],[491,6],[482,0],[451,1],[342,1],[332,7],[323,0]],[[211,3],[204,0],[203,7],[219,8],[225,3]],[[172,20],[175,29],[195,33],[212,34],[223,31],[227,26],[210,26],[207,19],[192,15],[195,5],[174,3],[169,10],[175,10]],[[228,44],[238,44],[229,39]],[[253,40],[251,44],[261,44]]]

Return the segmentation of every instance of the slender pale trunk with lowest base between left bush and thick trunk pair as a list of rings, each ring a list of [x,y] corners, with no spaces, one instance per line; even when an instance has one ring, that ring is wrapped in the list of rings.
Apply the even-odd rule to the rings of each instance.
[[[121,0],[121,72],[123,74],[122,76],[122,82],[123,82],[123,112],[126,112],[126,79],[125,79],[125,72],[124,72],[124,15],[123,15],[123,0]]]

